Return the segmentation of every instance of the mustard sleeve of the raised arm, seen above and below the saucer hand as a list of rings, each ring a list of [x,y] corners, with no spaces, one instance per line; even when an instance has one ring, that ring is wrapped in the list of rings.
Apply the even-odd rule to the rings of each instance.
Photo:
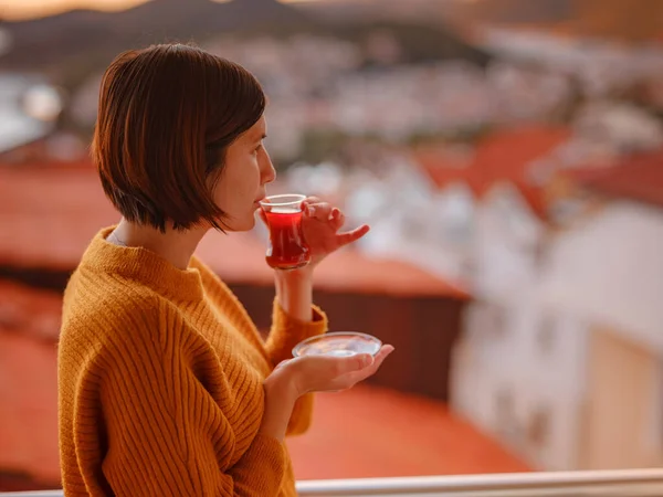
[[[274,364],[293,358],[293,349],[302,340],[327,331],[327,316],[323,310],[313,306],[313,320],[302,321],[290,316],[274,299],[272,314],[272,330],[267,338],[266,348]],[[295,402],[293,414],[287,425],[287,435],[301,435],[311,426],[313,417],[313,393],[301,396]]]

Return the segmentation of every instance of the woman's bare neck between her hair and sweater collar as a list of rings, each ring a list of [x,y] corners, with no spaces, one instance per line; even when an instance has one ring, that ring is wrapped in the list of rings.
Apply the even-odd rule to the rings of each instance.
[[[190,230],[168,228],[166,233],[162,233],[155,228],[131,223],[123,218],[109,236],[109,241],[147,248],[183,271],[189,267],[189,261],[207,231],[201,226]]]

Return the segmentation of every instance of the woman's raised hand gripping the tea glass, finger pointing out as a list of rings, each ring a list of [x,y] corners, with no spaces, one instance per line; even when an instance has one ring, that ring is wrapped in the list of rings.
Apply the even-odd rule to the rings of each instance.
[[[368,224],[355,230],[340,232],[345,215],[339,209],[323,202],[317,197],[308,197],[302,202],[302,231],[311,250],[309,267],[315,267],[327,255],[341,246],[356,242],[369,231]]]

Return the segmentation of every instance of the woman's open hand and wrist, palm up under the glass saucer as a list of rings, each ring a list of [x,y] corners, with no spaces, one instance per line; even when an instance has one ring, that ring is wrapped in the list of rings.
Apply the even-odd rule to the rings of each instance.
[[[383,346],[375,358],[304,356],[281,362],[264,381],[265,404],[260,432],[277,440],[285,437],[295,402],[311,392],[347,390],[376,373],[393,351]]]

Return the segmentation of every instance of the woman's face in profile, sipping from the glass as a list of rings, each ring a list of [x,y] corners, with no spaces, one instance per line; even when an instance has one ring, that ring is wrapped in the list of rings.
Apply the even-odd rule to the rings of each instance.
[[[225,212],[222,226],[249,231],[255,224],[257,203],[265,197],[265,184],[276,171],[263,139],[267,135],[264,116],[241,135],[225,151],[225,165],[214,188],[214,201]]]

